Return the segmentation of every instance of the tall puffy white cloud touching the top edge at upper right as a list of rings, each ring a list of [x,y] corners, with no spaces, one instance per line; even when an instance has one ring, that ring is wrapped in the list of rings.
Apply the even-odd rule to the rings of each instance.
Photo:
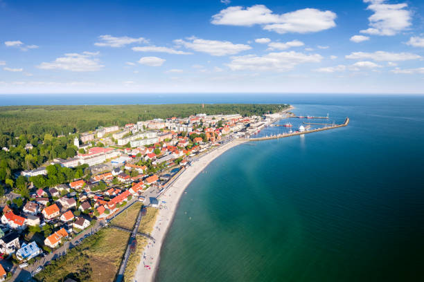
[[[407,3],[387,4],[385,0],[364,0],[370,3],[367,10],[373,11],[369,26],[360,32],[369,35],[396,35],[411,26],[411,12],[405,10]]]

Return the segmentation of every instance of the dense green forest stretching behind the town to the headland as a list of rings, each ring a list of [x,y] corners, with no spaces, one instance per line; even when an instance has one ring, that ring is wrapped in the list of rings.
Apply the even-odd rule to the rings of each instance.
[[[123,126],[130,122],[174,116],[184,118],[196,113],[263,115],[282,111],[288,106],[288,104],[205,104],[204,108],[202,104],[0,106],[0,194],[3,194],[3,185],[10,188],[24,186],[23,183],[18,185],[21,183],[18,183],[17,172],[34,169],[54,158],[65,159],[76,156],[78,148],[73,145],[73,138],[82,132],[94,131],[99,126]],[[25,149],[27,143],[32,144],[33,148]],[[2,150],[3,147],[8,151]],[[19,178],[19,182],[23,182],[23,178]],[[43,186],[42,183],[38,184]]]

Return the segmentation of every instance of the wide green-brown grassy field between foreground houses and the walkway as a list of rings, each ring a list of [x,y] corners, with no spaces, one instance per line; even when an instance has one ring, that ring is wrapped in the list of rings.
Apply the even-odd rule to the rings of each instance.
[[[37,281],[57,282],[71,277],[77,281],[114,281],[121,264],[130,233],[105,228],[69,250],[66,256],[52,261],[39,272]]]

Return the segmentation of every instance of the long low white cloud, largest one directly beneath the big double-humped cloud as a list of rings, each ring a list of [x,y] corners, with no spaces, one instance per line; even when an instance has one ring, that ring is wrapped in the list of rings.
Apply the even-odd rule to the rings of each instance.
[[[231,59],[231,62],[227,66],[232,71],[288,71],[298,64],[321,62],[322,56],[318,54],[306,55],[290,51],[269,53],[263,56],[238,56]]]

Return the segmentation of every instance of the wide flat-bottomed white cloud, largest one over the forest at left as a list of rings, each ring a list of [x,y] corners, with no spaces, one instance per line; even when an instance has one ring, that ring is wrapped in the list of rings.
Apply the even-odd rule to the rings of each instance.
[[[68,53],[64,57],[56,58],[53,62],[42,62],[37,67],[44,70],[99,71],[103,65],[99,64],[99,60],[95,57],[97,55],[99,55],[98,52]]]

